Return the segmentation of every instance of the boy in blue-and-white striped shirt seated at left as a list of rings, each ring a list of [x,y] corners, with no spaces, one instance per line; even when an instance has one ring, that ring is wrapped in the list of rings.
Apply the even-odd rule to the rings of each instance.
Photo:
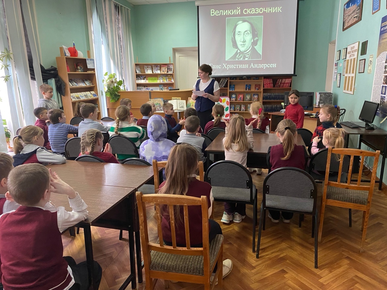
[[[68,132],[78,132],[78,127],[66,124],[66,115],[60,109],[52,109],[47,113],[51,125],[48,127],[48,141],[54,153],[65,155],[65,144]]]

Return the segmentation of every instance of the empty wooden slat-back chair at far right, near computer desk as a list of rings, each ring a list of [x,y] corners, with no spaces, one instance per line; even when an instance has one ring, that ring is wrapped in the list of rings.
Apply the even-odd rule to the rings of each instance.
[[[329,167],[332,154],[340,155],[340,166],[339,175],[337,181],[329,180]],[[340,182],[341,171],[343,168],[344,156],[348,155],[351,157],[349,162],[348,181],[346,183]],[[320,228],[319,228],[319,242],[321,241],[322,224],[324,222],[325,205],[334,205],[344,208],[353,208],[356,210],[363,211],[363,221],[361,223],[361,230],[363,234],[361,236],[360,252],[364,251],[364,242],[367,233],[368,217],[370,215],[371,200],[373,194],[373,188],[375,185],[376,169],[378,166],[380,151],[376,152],[360,150],[360,149],[328,149],[327,168],[325,173],[324,181],[324,192],[322,195],[322,206],[321,206],[321,217],[320,217]],[[351,182],[351,176],[353,171],[353,160],[354,156],[361,157],[359,177],[357,182]],[[373,159],[373,170],[369,185],[360,185],[361,174],[363,172],[365,157],[374,157]]]

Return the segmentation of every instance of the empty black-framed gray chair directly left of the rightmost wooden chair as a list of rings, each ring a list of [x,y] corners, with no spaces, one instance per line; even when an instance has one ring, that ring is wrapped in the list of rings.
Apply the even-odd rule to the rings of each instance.
[[[257,259],[262,229],[265,230],[266,210],[312,215],[312,237],[315,238],[315,268],[317,269],[317,185],[307,172],[295,167],[282,167],[270,172],[263,184],[259,220]]]

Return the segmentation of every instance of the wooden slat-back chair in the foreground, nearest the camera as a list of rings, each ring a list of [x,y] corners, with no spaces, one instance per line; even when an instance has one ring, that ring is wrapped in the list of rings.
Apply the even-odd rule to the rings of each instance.
[[[146,289],[154,289],[158,279],[168,281],[182,281],[188,283],[204,284],[205,290],[213,289],[218,278],[218,285],[222,288],[223,282],[223,235],[216,235],[209,243],[208,229],[208,203],[207,197],[196,198],[192,196],[176,196],[172,194],[146,194],[136,192],[139,210],[141,246],[144,257]],[[159,241],[149,242],[147,227],[147,212],[145,203],[156,205],[156,219]],[[160,205],[167,205],[170,213],[172,245],[163,244],[163,231],[161,229]],[[185,241],[186,247],[176,246],[175,215],[173,206],[180,205],[184,210]],[[190,233],[188,227],[188,206],[202,207],[203,247],[190,247]],[[198,221],[199,222],[199,221]],[[217,264],[215,277],[210,282],[211,273]]]

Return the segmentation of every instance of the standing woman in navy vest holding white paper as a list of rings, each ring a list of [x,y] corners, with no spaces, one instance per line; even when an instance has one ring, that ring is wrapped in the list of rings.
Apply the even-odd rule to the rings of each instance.
[[[218,82],[210,78],[212,74],[212,68],[209,65],[201,65],[199,67],[199,77],[194,85],[194,91],[203,91],[203,96],[196,96],[195,92],[192,93],[192,100],[195,102],[195,109],[197,116],[200,119],[200,127],[204,128],[205,125],[212,120],[212,107],[215,102],[219,101],[220,89]]]

